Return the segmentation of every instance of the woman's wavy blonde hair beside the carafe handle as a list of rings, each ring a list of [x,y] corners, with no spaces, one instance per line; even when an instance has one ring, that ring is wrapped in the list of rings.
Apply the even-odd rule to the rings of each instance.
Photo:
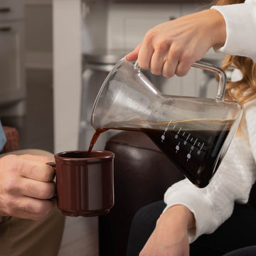
[[[227,5],[240,4],[244,0],[217,0],[213,4]],[[238,68],[242,73],[242,79],[237,82],[228,80],[225,90],[225,97],[228,100],[235,100],[241,105],[256,97],[256,64],[252,59],[238,55],[226,55],[223,63],[223,70]]]

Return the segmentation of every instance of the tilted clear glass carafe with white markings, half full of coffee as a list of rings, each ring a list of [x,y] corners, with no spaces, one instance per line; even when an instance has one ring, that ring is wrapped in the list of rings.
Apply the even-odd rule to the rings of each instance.
[[[163,95],[137,63],[119,60],[97,95],[91,122],[100,132],[144,132],[192,183],[203,188],[233,139],[242,107],[223,99],[227,79],[221,68],[202,62],[193,67],[219,75],[215,99]]]

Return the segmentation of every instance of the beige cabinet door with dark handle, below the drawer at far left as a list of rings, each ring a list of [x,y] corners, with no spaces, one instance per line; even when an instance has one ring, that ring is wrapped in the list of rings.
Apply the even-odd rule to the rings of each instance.
[[[23,22],[0,22],[0,104],[25,97]]]

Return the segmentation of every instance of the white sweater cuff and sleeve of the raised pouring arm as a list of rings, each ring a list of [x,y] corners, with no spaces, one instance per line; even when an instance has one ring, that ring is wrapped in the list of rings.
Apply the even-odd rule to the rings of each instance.
[[[256,0],[212,8],[223,15],[226,23],[227,38],[218,52],[249,57],[256,62]]]

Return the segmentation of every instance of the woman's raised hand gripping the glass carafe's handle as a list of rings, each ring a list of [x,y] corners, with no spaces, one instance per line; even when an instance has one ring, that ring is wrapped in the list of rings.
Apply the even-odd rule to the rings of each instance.
[[[200,11],[149,29],[127,60],[138,58],[139,66],[155,75],[183,76],[212,46],[223,46],[225,38],[223,16],[214,9]]]

